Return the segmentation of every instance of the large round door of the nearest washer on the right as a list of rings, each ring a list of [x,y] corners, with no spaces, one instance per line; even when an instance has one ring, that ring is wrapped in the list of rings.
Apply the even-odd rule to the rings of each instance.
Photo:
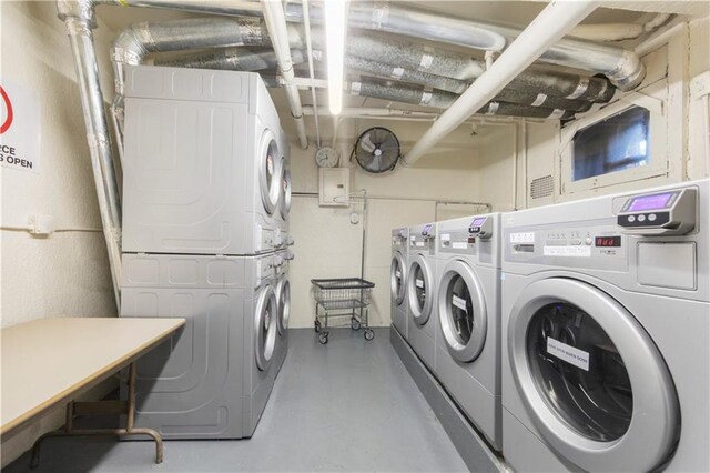
[[[673,381],[615,299],[574,279],[532,282],[507,335],[518,392],[560,456],[586,471],[651,471],[672,455],[680,427]]]

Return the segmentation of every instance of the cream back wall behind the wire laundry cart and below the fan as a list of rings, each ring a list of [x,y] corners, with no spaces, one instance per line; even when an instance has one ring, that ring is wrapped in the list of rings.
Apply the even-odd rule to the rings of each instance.
[[[398,129],[400,138],[407,138],[419,127],[413,124]],[[354,138],[353,138],[354,140]],[[457,169],[397,168],[384,175],[368,174],[357,164],[347,162],[349,137],[339,148],[342,167],[351,169],[351,190],[367,191],[365,238],[365,279],[375,283],[369,310],[372,325],[389,325],[389,260],[390,231],[435,220],[436,201],[476,200],[475,171]],[[315,165],[315,147],[301,150],[292,140],[292,177],[294,195],[291,211],[291,234],[295,260],[291,264],[292,309],[291,326],[313,326],[315,305],[311,279],[359,276],[363,235],[362,200],[355,199],[348,208],[318,205],[318,170]],[[462,165],[469,167],[478,159],[475,150],[456,153]],[[455,158],[448,158],[455,159]],[[428,167],[436,165],[429,162]],[[471,213],[475,207],[458,205],[455,209],[438,207],[439,218],[446,212]],[[361,214],[361,222],[351,223],[351,212]]]

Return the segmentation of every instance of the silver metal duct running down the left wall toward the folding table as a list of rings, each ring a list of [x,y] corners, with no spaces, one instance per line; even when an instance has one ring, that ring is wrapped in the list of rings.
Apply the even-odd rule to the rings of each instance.
[[[97,187],[99,213],[106,241],[113,295],[121,310],[121,200],[116,184],[111,138],[103,110],[103,94],[99,82],[97,54],[91,30],[97,27],[93,9],[78,8],[78,3],[58,4],[59,18],[67,26],[67,33],[74,57],[77,81],[81,92],[81,108],[87,127],[91,154],[91,169]]]

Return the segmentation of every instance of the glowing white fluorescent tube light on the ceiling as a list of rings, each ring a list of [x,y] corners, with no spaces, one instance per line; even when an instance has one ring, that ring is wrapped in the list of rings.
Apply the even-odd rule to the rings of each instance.
[[[343,56],[345,54],[346,0],[324,0],[325,39],[328,62],[328,108],[337,115],[343,111]]]

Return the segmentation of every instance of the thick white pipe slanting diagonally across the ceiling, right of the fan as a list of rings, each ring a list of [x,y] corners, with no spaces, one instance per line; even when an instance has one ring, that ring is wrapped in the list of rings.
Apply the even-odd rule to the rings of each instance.
[[[444,137],[496,97],[513,79],[535,62],[569,30],[596,8],[590,0],[552,1],[506,49],[484,74],[442,114],[432,128],[403,158],[414,164]]]

